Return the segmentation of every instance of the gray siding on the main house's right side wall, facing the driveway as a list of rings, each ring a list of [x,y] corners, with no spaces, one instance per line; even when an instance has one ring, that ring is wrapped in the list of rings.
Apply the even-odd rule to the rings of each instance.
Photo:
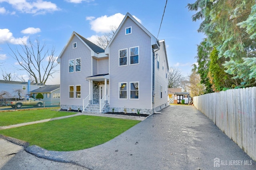
[[[160,106],[167,102],[168,96],[168,78],[166,78],[167,61],[164,51],[163,42],[160,43],[160,50],[155,54],[159,55],[159,69],[157,68],[157,60],[155,60],[155,106]],[[162,69],[162,62],[164,62],[164,70]],[[167,68],[168,69],[168,68]],[[162,86],[162,98],[160,87]]]

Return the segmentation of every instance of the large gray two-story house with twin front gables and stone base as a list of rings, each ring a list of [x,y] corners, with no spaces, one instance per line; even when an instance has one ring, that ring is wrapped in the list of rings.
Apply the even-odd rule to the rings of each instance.
[[[58,63],[62,109],[154,114],[168,106],[165,41],[129,13],[105,50],[73,32]]]

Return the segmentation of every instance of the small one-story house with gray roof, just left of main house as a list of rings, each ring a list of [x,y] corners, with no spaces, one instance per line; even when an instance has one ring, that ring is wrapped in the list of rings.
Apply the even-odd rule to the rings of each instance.
[[[44,98],[41,99],[45,105],[60,105],[60,84],[46,85],[36,90],[30,91],[33,98],[36,98],[38,93],[43,94]]]

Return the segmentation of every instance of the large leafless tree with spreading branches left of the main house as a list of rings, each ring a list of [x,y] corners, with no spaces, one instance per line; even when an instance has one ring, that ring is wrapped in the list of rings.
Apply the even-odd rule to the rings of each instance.
[[[56,56],[54,56],[54,47],[48,49],[45,43],[40,45],[38,38],[36,38],[36,45],[29,40],[28,44],[23,42],[20,47],[22,51],[19,51],[18,48],[14,51],[9,46],[13,54],[12,57],[21,66],[21,68],[17,68],[18,70],[26,70],[31,82],[45,84],[49,76],[53,78],[53,74],[57,72],[54,68],[58,65]]]

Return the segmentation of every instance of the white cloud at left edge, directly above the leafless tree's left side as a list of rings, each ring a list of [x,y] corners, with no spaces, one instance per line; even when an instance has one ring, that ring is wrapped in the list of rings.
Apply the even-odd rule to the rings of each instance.
[[[0,29],[0,44],[11,43],[11,44],[26,44],[28,40],[28,36],[24,36],[22,38],[14,38],[12,36],[12,32],[8,29]]]

